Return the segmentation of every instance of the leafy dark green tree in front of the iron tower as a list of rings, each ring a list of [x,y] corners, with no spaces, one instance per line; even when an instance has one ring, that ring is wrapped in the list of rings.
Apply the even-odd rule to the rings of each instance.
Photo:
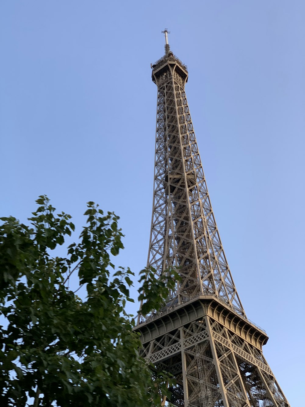
[[[54,250],[74,231],[71,217],[55,215],[46,196],[36,202],[30,226],[1,218],[0,404],[160,405],[167,378],[139,357],[139,337],[125,311],[133,302],[133,273],[111,263],[110,254],[123,248],[119,218],[88,202],[78,243],[57,257]],[[163,306],[174,281],[144,273],[139,298],[146,298],[148,313]],[[72,274],[84,285],[85,300],[68,288]]]

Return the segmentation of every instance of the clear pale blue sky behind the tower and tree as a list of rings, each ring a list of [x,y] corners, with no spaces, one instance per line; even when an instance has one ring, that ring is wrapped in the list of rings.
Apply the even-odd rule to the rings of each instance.
[[[303,0],[0,3],[0,215],[38,195],[121,217],[118,265],[146,265],[157,88],[150,63],[188,66],[187,98],[243,306],[292,407],[304,405]],[[303,362],[302,362],[303,360]]]

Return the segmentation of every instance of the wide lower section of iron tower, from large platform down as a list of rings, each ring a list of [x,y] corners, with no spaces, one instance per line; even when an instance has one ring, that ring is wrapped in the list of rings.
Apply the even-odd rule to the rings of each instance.
[[[166,308],[135,331],[142,357],[174,377],[173,405],[289,407],[262,354],[264,330],[212,296]]]

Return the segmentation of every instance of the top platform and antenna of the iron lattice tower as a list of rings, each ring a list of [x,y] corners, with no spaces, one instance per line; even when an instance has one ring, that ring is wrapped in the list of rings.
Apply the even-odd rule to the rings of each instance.
[[[165,45],[164,45],[165,54],[155,63],[150,64],[150,67],[153,69],[152,72],[153,82],[158,84],[158,79],[161,76],[168,74],[169,72],[171,74],[176,72],[181,76],[184,83],[186,83],[188,77],[187,66],[179,58],[177,58],[176,55],[174,55],[174,53],[170,50],[170,45],[168,44],[168,34],[170,34],[170,31],[168,31],[166,28],[164,31],[161,32],[165,36]]]

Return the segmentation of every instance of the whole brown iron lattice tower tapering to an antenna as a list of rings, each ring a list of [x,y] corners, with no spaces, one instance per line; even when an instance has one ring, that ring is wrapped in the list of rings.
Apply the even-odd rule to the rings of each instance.
[[[179,267],[166,306],[140,315],[142,355],[176,379],[185,407],[288,407],[247,319],[218,233],[185,96],[187,67],[170,51],[152,65],[158,88],[148,267]],[[162,405],[166,405],[163,398]]]

